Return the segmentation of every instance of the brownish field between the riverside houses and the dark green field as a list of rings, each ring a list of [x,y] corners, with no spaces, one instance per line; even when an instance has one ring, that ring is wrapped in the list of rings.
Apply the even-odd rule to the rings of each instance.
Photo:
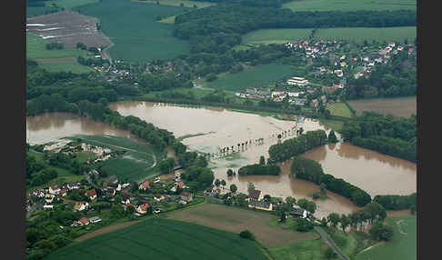
[[[204,204],[171,212],[167,217],[236,233],[248,229],[266,247],[298,243],[318,236],[313,232],[301,233],[269,225],[275,215],[227,205]]]

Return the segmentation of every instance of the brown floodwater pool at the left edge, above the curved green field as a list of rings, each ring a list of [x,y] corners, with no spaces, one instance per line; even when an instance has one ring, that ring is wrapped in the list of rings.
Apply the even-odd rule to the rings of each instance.
[[[69,113],[48,113],[26,117],[26,140],[31,145],[45,144],[72,135],[132,136],[128,131]]]

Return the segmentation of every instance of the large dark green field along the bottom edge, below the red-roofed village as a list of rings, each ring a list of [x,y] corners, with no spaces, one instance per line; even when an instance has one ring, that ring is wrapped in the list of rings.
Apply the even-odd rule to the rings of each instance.
[[[267,259],[255,242],[202,225],[151,218],[56,250],[44,259]]]

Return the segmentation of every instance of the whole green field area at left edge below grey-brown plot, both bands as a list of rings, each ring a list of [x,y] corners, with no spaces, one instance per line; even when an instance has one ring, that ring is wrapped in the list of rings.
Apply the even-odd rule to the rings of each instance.
[[[26,34],[26,58],[37,60],[37,63],[49,72],[71,71],[73,73],[81,74],[94,71],[93,68],[86,65],[80,65],[75,60],[79,55],[87,55],[87,51],[75,48],[46,50],[46,44],[48,44],[48,42],[43,38],[37,35]],[[56,60],[60,58],[72,58],[72,60]]]

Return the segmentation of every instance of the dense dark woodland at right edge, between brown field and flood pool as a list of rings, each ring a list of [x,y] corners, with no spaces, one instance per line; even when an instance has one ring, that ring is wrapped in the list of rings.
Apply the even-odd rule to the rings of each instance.
[[[345,141],[381,154],[417,162],[417,116],[410,118],[364,112],[341,130]]]

